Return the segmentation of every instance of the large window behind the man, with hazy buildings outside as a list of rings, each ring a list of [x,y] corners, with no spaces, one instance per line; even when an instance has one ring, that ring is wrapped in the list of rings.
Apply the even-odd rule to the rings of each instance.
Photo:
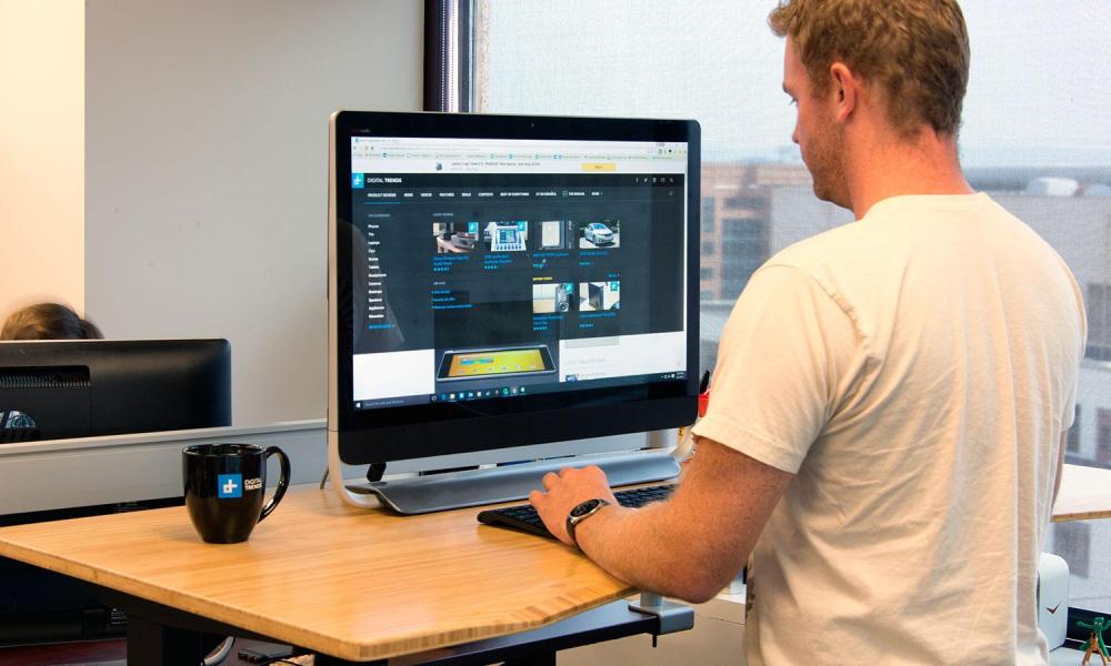
[[[752,271],[852,220],[814,199],[791,142],[783,43],[767,27],[773,4],[677,0],[642,11],[628,1],[478,3],[476,110],[701,123],[702,259],[712,269],[700,284],[704,367],[717,360],[717,336]],[[1111,410],[1111,364],[1103,363],[1111,361],[1107,2],[961,4],[973,52],[962,163],[974,188],[1044,238],[1085,285],[1089,351],[1078,402],[1095,415]],[[1070,462],[1111,465],[1111,421],[1098,421],[1070,432]],[[1092,604],[1111,609],[1111,551],[1094,548],[1083,566],[1092,581],[1103,577]]]

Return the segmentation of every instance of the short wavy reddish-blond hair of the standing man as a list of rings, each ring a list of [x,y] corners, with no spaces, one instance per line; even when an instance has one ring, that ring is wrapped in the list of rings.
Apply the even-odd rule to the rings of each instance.
[[[955,0],[780,0],[768,17],[794,41],[814,94],[843,62],[885,98],[904,137],[924,123],[955,135],[969,81],[969,38]]]

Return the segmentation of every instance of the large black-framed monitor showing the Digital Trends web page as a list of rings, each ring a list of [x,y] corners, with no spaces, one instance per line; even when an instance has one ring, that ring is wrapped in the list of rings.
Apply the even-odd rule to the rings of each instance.
[[[337,113],[343,462],[692,421],[698,137],[693,121]]]

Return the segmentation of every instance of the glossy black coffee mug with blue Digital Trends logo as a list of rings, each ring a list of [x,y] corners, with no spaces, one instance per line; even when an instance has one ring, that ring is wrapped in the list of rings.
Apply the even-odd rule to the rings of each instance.
[[[278,456],[281,477],[274,496],[262,505],[267,458]],[[289,487],[289,456],[270,446],[200,444],[181,451],[181,480],[189,519],[210,544],[247,541],[254,526],[270,515]]]

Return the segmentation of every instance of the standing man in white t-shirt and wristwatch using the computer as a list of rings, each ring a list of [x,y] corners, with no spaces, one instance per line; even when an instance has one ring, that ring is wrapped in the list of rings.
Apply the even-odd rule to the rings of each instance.
[[[857,221],[752,275],[671,501],[615,506],[592,468],[530,498],[569,544],[578,507],[574,542],[617,577],[688,601],[751,554],[750,664],[1043,664],[1037,563],[1083,305],[961,173],[961,11],[784,0],[770,23],[814,192]]]

